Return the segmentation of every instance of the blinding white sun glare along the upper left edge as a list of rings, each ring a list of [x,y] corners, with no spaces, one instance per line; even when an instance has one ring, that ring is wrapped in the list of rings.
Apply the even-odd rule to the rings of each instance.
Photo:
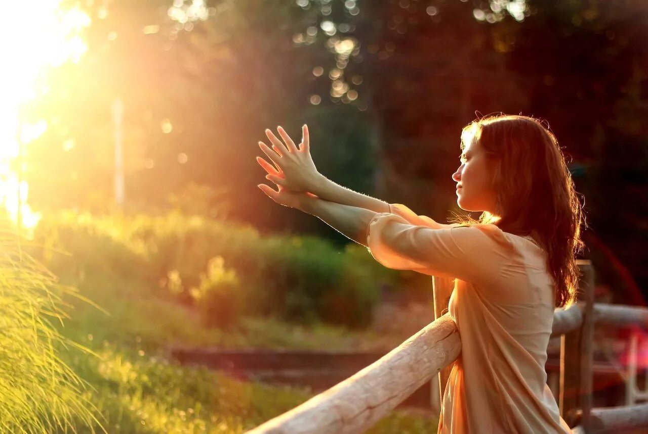
[[[47,72],[65,62],[79,60],[87,46],[80,30],[90,17],[78,8],[62,8],[62,0],[16,1],[1,6],[8,17],[0,27],[0,208],[23,228],[34,228],[40,219],[27,203],[27,182],[12,170],[21,147],[47,131],[44,121],[27,124],[21,105],[47,92]],[[15,165],[14,165],[15,166]],[[20,221],[18,221],[20,220]]]

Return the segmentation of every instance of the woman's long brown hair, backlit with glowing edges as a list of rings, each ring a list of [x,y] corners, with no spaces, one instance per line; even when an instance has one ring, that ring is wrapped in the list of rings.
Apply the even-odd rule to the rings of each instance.
[[[469,140],[492,162],[494,213],[479,221],[504,232],[531,237],[547,254],[547,268],[555,284],[555,307],[575,302],[584,213],[558,140],[540,121],[521,115],[497,114],[470,122],[461,131],[461,149]]]

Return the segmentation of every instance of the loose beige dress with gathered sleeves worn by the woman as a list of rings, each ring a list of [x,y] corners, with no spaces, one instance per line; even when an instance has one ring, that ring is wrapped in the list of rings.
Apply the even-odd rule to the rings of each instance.
[[[555,295],[543,250],[494,224],[456,227],[402,204],[390,209],[367,227],[376,261],[456,278],[448,310],[461,354],[438,433],[571,433],[546,384]]]

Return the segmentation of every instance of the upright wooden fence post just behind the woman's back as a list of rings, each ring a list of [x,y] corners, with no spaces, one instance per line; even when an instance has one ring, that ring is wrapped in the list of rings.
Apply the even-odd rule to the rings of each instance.
[[[594,345],[594,268],[586,259],[577,261],[581,270],[578,303],[583,303],[581,327],[561,337],[561,416],[569,426],[576,423],[585,432],[592,411],[592,353]]]

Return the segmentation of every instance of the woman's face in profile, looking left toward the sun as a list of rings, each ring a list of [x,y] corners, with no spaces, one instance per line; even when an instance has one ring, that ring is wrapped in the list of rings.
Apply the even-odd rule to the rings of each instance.
[[[471,140],[463,149],[461,166],[452,174],[457,182],[457,205],[465,211],[495,213],[495,191],[491,187],[492,162]]]

